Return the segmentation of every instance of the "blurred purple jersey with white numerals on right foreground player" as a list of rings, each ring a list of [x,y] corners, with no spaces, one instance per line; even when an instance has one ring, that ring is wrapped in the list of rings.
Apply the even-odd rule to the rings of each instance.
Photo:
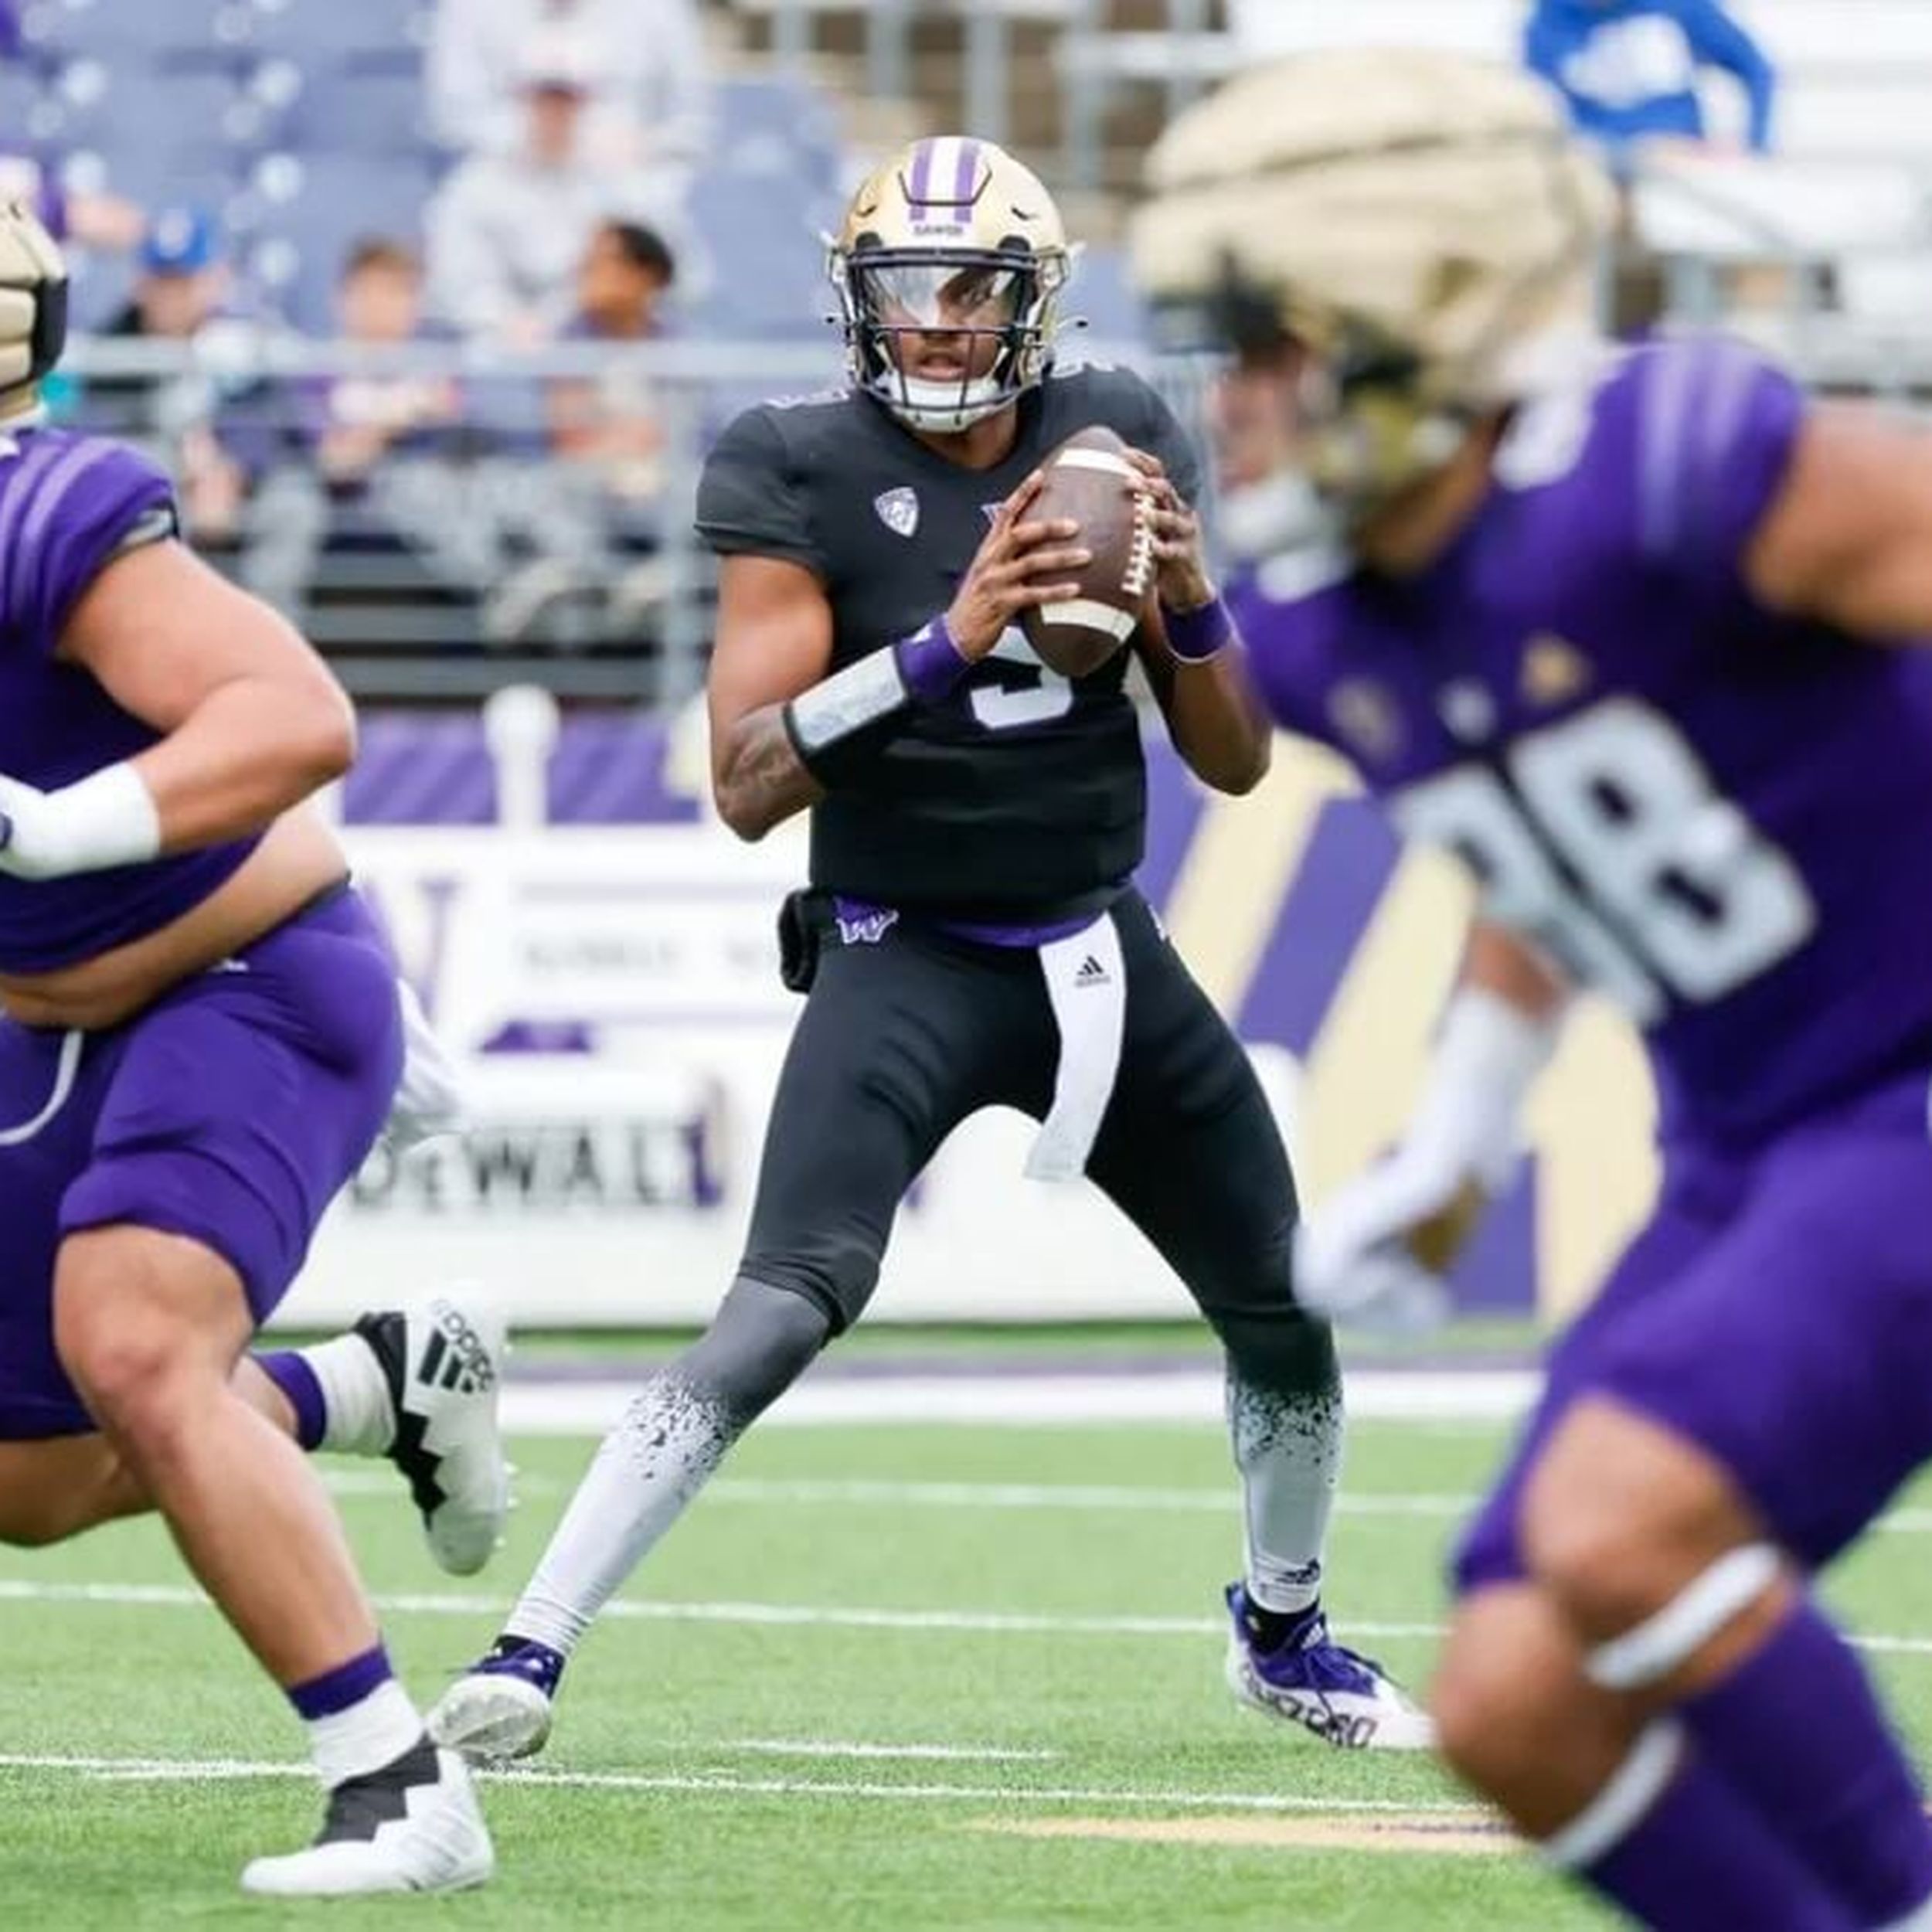
[[[1636,350],[1519,415],[1420,576],[1233,593],[1275,717],[1644,1030],[1669,1134],[1932,1063],[1932,653],[1743,582],[1803,417],[1737,344]]]

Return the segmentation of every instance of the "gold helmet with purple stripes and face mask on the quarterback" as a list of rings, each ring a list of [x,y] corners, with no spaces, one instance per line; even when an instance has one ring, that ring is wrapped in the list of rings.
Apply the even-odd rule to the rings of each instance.
[[[852,383],[914,429],[993,415],[1045,377],[1070,267],[1059,209],[1032,168],[970,135],[914,141],[860,184],[831,247]],[[914,381],[895,338],[949,327],[941,294],[962,286],[999,315],[980,325],[999,334],[999,359],[983,377]]]

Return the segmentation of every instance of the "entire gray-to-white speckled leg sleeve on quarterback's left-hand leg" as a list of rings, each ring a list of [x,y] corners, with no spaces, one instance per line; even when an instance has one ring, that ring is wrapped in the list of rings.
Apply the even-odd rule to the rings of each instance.
[[[603,1439],[504,1629],[568,1656],[829,1331],[804,1296],[732,1283],[705,1335],[643,1385]]]

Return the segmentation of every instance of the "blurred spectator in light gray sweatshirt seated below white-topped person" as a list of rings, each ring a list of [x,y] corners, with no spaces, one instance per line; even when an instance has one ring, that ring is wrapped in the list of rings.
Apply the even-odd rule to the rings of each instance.
[[[435,313],[466,334],[547,342],[570,319],[572,284],[597,226],[651,218],[665,184],[612,170],[583,149],[591,48],[549,29],[522,68],[524,143],[471,155],[429,207]]]

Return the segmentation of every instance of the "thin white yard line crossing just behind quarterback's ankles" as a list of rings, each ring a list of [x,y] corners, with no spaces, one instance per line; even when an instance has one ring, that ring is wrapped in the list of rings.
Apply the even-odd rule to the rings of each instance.
[[[0,1604],[106,1604],[145,1609],[207,1609],[199,1590],[164,1582],[35,1582],[0,1577]],[[458,1592],[404,1592],[375,1598],[375,1607],[394,1615],[481,1617],[500,1615],[504,1598]],[[657,1604],[614,1598],[601,1615],[616,1623],[724,1623],[823,1631],[949,1631],[968,1636],[1221,1636],[1221,1617],[1088,1617],[1051,1611],[1007,1609],[869,1609],[819,1604]],[[1381,1642],[1385,1638],[1435,1638],[1441,1623],[1339,1621],[1339,1634]],[[1859,1650],[1876,1656],[1928,1658],[1932,1636],[1853,1636]],[[4,1762],[4,1760],[0,1760]]]

